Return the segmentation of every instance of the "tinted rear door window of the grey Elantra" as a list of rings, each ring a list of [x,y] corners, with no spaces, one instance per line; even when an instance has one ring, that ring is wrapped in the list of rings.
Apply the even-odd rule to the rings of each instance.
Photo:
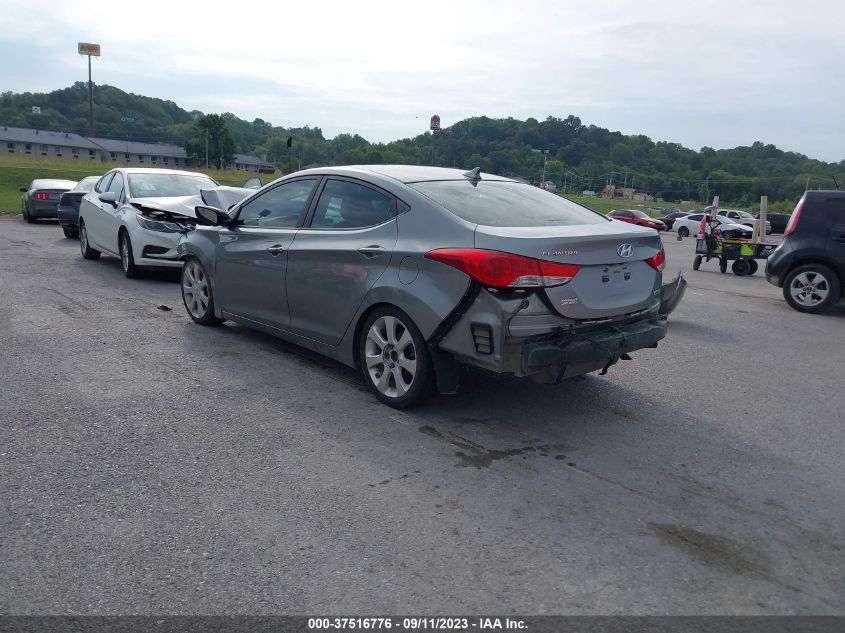
[[[393,217],[393,199],[364,185],[329,180],[311,221],[313,229],[361,229]]]

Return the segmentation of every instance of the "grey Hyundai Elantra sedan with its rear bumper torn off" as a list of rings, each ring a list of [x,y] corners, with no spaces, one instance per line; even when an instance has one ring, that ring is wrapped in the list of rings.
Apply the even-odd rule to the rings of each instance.
[[[654,347],[685,282],[652,230],[479,168],[310,169],[197,208],[182,297],[358,367],[397,408],[457,363],[557,382]]]

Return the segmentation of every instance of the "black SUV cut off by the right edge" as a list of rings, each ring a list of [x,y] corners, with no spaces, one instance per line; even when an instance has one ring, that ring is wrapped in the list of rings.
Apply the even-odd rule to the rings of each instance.
[[[845,191],[807,191],[783,235],[766,279],[796,310],[824,312],[845,287]]]

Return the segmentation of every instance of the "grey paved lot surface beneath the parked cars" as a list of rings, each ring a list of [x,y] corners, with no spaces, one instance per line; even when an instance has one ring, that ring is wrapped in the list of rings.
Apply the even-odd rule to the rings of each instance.
[[[0,612],[845,614],[845,307],[665,243],[658,349],[400,413],[0,220]]]

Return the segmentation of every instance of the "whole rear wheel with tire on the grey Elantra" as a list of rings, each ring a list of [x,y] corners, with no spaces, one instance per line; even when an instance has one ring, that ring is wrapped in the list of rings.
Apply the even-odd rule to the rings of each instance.
[[[428,343],[402,310],[374,310],[361,328],[358,359],[364,382],[384,404],[409,409],[435,391],[434,364]]]

